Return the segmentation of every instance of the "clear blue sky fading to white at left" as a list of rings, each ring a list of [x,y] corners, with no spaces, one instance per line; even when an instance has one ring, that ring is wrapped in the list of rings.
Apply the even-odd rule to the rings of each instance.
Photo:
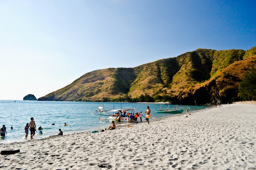
[[[40,98],[91,72],[198,48],[256,46],[254,0],[0,2],[0,100]]]

